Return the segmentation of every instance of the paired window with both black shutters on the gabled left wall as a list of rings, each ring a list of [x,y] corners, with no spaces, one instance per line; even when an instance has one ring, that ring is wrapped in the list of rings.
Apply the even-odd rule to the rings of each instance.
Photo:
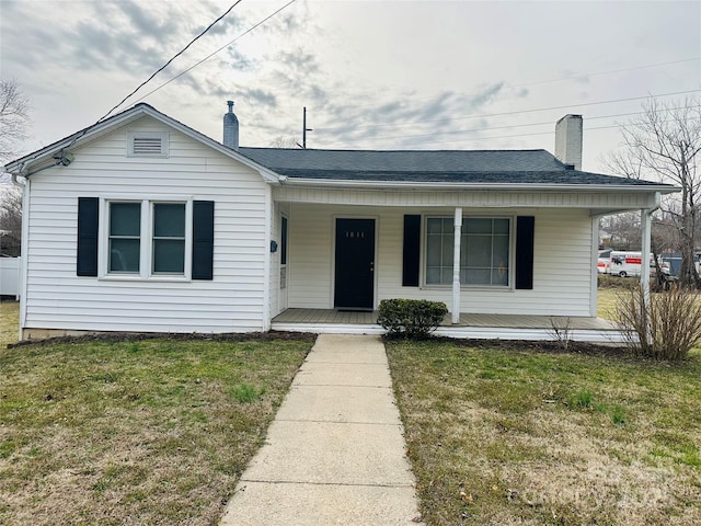
[[[214,279],[215,202],[78,197],[76,274]]]

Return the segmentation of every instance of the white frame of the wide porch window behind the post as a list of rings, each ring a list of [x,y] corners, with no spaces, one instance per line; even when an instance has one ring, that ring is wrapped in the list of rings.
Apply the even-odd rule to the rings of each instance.
[[[452,284],[438,284],[438,283],[427,283],[426,279],[426,264],[428,258],[428,219],[450,219],[455,220],[455,217],[449,214],[423,214],[422,217],[422,258],[421,258],[421,284],[422,288],[426,289],[450,289]],[[462,217],[462,231],[461,236],[464,236],[467,222],[470,219],[508,219],[508,277],[507,285],[486,285],[486,284],[466,284],[460,283],[460,289],[483,289],[483,290],[513,290],[515,287],[515,251],[516,251],[516,237],[515,237],[515,228],[516,228],[516,216],[514,215],[505,215],[505,214],[478,214],[478,215],[466,215]],[[450,242],[452,243],[453,237],[452,233],[450,236]],[[462,266],[462,260],[460,261],[460,265]]]

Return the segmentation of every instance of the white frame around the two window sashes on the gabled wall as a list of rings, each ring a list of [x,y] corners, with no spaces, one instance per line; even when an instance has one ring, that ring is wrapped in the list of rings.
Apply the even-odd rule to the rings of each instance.
[[[140,203],[141,231],[139,272],[110,272],[110,204]],[[153,205],[156,204],[185,205],[185,262],[182,274],[166,274],[153,272]],[[102,196],[100,197],[97,277],[116,281],[150,281],[150,282],[189,282],[193,266],[193,197],[192,196],[148,196],[135,199],[134,196]]]

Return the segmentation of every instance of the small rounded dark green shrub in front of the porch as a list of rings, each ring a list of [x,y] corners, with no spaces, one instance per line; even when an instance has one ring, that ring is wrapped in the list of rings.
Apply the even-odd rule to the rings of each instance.
[[[377,322],[389,335],[404,334],[406,338],[422,339],[435,331],[447,313],[448,307],[441,301],[383,299]]]

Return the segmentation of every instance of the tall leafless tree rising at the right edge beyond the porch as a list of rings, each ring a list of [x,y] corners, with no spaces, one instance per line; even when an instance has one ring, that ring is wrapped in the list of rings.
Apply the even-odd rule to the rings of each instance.
[[[625,150],[608,159],[609,169],[633,179],[654,178],[681,188],[665,201],[665,214],[678,232],[680,283],[701,288],[694,266],[701,205],[701,100],[643,104],[644,113],[623,126]]]

